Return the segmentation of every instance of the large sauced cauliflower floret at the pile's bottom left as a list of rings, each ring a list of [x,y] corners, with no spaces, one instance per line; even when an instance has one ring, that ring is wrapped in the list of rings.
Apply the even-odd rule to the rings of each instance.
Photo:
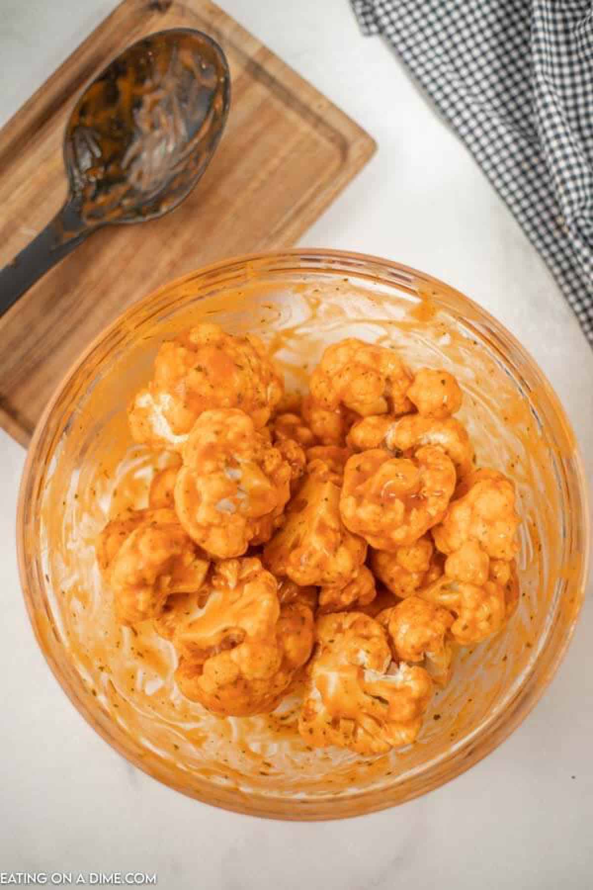
[[[305,603],[280,606],[276,578],[258,559],[219,562],[204,609],[175,632],[175,678],[188,699],[226,716],[276,707],[313,646]]]

